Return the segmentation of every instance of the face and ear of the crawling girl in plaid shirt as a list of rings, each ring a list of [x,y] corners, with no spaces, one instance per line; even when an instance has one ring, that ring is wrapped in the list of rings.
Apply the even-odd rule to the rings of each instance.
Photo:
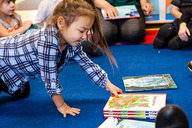
[[[82,40],[86,39],[87,33],[91,29],[93,22],[94,18],[80,16],[77,17],[77,19],[70,26],[66,26],[65,19],[63,17],[59,17],[57,25],[62,38],[64,39],[63,43],[77,46]]]

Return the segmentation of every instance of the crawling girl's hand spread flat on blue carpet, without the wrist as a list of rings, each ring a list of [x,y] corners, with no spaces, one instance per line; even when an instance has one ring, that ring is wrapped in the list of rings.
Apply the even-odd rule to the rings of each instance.
[[[57,107],[57,110],[63,114],[63,117],[66,117],[67,114],[70,114],[72,116],[75,116],[76,114],[79,114],[80,113],[80,109],[78,108],[72,108],[72,107],[69,107],[65,102],[63,103],[62,106],[60,107]]]

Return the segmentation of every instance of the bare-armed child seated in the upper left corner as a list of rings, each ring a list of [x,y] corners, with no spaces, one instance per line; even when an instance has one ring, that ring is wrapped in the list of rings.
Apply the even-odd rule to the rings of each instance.
[[[21,22],[15,13],[15,0],[0,0],[0,37],[22,34],[30,28],[32,21]]]

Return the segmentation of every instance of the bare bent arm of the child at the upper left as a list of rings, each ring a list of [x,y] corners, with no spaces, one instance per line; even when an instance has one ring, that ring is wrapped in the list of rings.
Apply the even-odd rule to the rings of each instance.
[[[22,23],[22,26],[19,27],[16,30],[13,30],[9,32],[7,28],[5,28],[2,24],[0,24],[0,37],[7,37],[7,36],[15,36],[17,34],[22,34],[24,33],[27,29],[29,29],[32,25],[32,21],[25,21]]]

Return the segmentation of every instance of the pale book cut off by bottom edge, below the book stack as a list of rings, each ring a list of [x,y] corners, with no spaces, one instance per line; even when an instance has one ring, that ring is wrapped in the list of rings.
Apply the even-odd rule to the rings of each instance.
[[[155,128],[155,123],[109,117],[98,128]]]

